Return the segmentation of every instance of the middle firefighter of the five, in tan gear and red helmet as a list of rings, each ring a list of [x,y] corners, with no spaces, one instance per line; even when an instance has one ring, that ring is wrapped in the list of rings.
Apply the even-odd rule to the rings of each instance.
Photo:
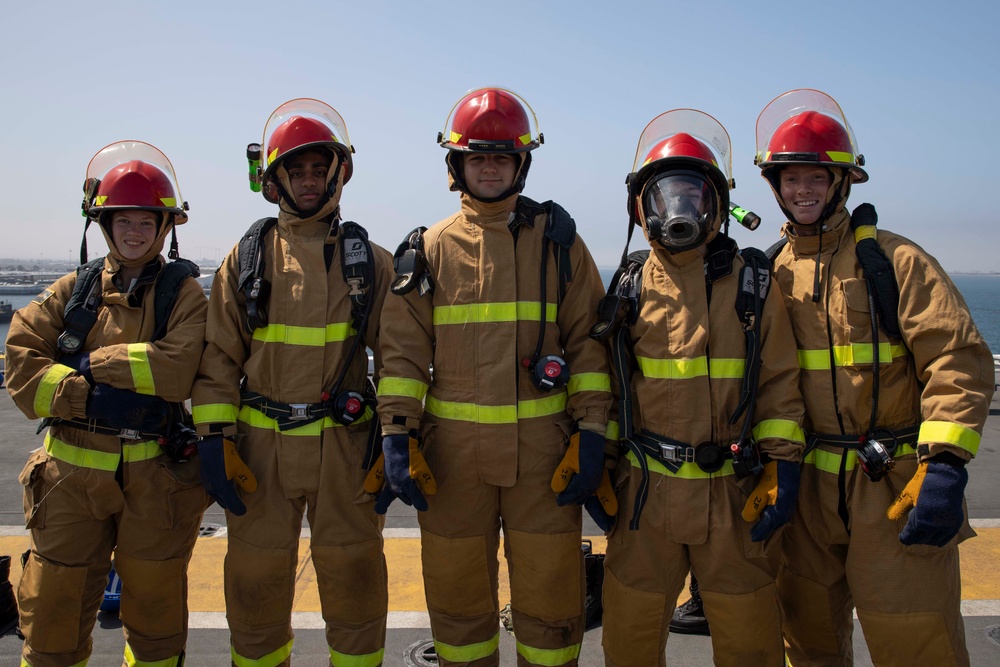
[[[520,194],[541,142],[509,90],[455,105],[439,143],[461,208],[397,251],[382,318],[380,502],[421,510],[441,665],[499,664],[501,530],[517,664],[576,665],[583,639],[580,506],[603,516],[610,489],[607,354],[588,336],[603,289],[566,211]]]

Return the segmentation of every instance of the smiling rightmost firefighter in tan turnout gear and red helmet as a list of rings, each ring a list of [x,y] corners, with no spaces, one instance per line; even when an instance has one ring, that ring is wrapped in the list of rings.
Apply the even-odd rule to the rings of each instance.
[[[809,442],[778,579],[788,656],[853,664],[856,608],[875,664],[968,665],[957,546],[990,351],[933,257],[876,230],[872,206],[848,211],[868,174],[833,99],[774,99],[756,163],[788,220],[774,271]]]

